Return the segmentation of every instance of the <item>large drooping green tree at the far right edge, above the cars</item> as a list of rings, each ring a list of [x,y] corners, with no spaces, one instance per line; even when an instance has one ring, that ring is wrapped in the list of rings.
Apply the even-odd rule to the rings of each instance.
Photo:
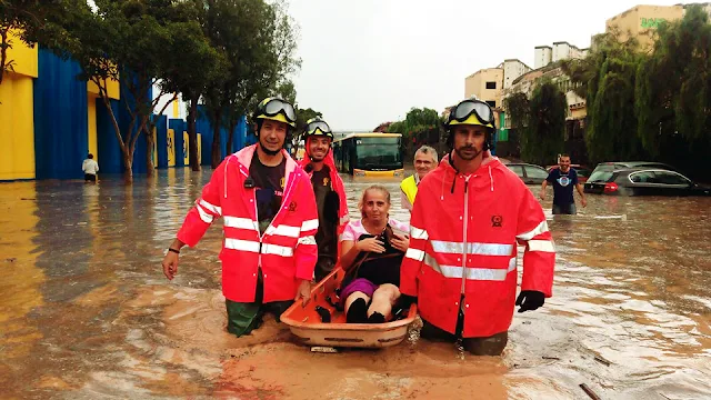
[[[711,153],[711,24],[700,6],[662,23],[637,70],[638,132],[644,149],[688,171]]]

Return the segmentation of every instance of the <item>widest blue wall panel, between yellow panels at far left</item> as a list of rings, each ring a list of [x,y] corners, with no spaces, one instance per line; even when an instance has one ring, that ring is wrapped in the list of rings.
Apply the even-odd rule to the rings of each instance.
[[[79,64],[40,49],[34,80],[34,164],[37,179],[82,178],[89,148],[87,82]]]

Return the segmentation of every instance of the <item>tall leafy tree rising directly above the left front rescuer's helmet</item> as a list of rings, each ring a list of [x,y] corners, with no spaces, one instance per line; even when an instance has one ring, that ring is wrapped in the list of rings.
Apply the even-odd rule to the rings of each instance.
[[[298,26],[283,1],[193,0],[213,47],[227,56],[227,73],[206,84],[202,93],[216,129],[212,164],[220,161],[220,127],[228,129],[228,149],[240,118],[268,96],[281,94],[292,103],[296,89],[289,76],[300,67],[296,57]]]

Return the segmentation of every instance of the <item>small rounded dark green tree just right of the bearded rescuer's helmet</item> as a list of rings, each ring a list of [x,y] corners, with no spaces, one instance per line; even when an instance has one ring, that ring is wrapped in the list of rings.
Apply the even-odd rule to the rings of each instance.
[[[554,83],[544,81],[535,87],[528,102],[528,116],[514,117],[528,122],[521,129],[524,160],[544,166],[563,151],[567,109],[565,94]]]

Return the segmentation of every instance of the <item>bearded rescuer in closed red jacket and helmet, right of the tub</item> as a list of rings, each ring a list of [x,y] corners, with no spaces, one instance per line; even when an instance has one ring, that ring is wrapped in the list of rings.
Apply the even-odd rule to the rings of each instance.
[[[422,338],[461,338],[473,354],[498,356],[514,303],[535,310],[552,294],[553,241],[532,192],[489,151],[489,104],[461,101],[447,129],[453,150],[418,188],[400,291],[418,302]],[[517,242],[525,246],[518,299]]]

